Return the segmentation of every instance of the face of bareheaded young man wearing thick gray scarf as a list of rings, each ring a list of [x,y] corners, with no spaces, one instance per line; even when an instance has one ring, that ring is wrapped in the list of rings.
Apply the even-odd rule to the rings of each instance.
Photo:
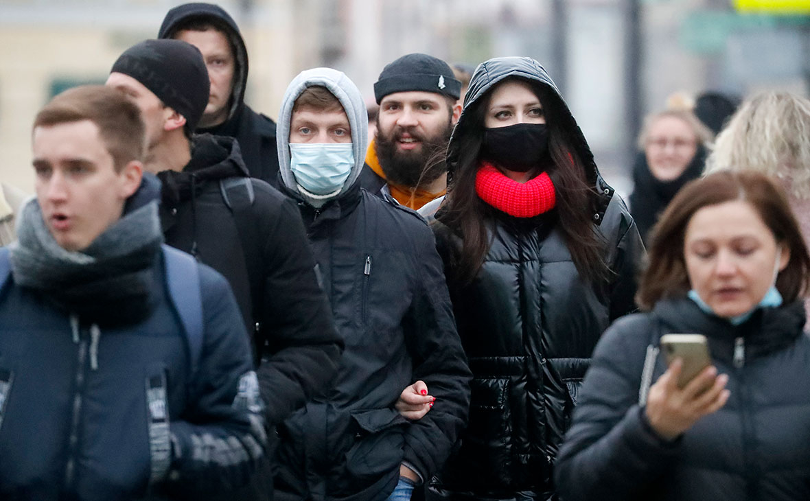
[[[32,149],[42,217],[66,250],[87,248],[121,218],[126,198],[140,185],[140,163],[116,172],[92,121],[36,127]]]

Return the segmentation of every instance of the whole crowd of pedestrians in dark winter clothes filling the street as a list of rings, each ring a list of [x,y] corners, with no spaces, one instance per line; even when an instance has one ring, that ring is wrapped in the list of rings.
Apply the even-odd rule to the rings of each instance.
[[[0,499],[810,497],[810,101],[651,114],[628,206],[530,57],[399,57],[370,137],[347,74],[277,123],[247,74],[188,3],[36,115]]]

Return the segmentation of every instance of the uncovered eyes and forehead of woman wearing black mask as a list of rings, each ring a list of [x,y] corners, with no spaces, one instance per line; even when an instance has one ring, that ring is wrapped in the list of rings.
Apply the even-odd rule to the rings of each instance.
[[[484,127],[494,129],[516,124],[544,124],[543,105],[528,83],[509,80],[492,91]]]

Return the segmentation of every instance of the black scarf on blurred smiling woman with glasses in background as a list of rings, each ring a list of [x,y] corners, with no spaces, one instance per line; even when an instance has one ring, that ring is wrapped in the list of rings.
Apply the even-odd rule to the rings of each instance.
[[[678,190],[690,180],[697,179],[703,172],[706,163],[706,148],[697,146],[692,161],[686,166],[684,172],[673,180],[662,181],[656,179],[647,165],[647,158],[643,151],[636,156],[633,165],[633,193],[630,194],[630,213],[642,235],[644,244],[648,244],[650,229],[658,221],[659,216],[667,208],[669,202],[678,193]]]

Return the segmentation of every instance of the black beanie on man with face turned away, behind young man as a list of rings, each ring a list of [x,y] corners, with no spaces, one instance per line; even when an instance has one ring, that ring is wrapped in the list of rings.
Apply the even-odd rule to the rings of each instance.
[[[163,104],[197,128],[208,104],[211,81],[199,49],[181,40],[143,40],[122,53],[110,73],[138,80]]]

